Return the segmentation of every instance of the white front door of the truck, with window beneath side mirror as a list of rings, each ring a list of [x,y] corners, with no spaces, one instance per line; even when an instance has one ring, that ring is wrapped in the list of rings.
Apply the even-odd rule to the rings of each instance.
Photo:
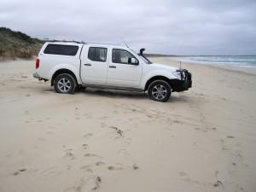
[[[108,62],[108,85],[138,88],[142,76],[142,64],[125,49],[112,49]],[[131,59],[136,63],[131,64]]]

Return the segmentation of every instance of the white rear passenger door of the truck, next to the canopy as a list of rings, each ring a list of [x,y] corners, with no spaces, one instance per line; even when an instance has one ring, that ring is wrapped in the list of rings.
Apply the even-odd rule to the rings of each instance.
[[[84,84],[107,84],[108,48],[88,46],[81,58],[81,79]]]

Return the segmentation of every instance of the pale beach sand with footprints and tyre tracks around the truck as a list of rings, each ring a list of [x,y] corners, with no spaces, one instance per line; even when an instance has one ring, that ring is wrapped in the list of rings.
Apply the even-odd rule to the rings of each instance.
[[[183,67],[193,89],[161,103],[55,94],[34,61],[0,62],[0,191],[256,191],[255,70]]]

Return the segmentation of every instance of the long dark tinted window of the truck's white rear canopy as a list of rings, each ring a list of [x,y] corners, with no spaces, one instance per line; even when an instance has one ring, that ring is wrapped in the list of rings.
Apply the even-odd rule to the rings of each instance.
[[[63,45],[63,44],[48,44],[44,49],[44,54],[52,55],[77,55],[79,46]]]

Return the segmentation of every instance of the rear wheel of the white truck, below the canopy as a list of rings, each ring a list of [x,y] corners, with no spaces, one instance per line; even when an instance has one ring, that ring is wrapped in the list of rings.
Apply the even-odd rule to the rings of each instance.
[[[71,74],[62,73],[54,80],[55,91],[61,94],[73,94],[77,87],[77,82]]]

